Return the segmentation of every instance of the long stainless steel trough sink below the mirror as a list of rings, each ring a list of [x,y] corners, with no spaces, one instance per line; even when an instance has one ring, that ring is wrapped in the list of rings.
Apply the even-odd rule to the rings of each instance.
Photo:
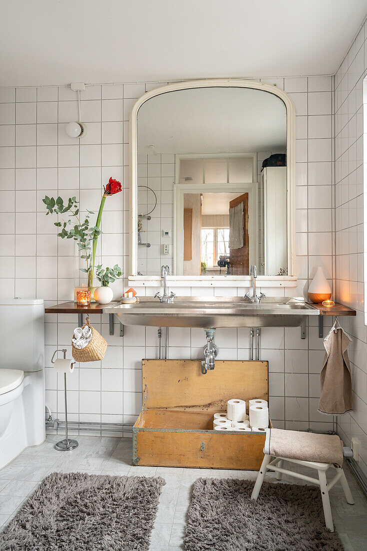
[[[154,327],[298,327],[308,316],[320,311],[289,297],[268,297],[250,304],[241,297],[178,296],[165,304],[153,297],[139,298],[134,304],[118,304],[103,309],[115,314],[123,325]]]

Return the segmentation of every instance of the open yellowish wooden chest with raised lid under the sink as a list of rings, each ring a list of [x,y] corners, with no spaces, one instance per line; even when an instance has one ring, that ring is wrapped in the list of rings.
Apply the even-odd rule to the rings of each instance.
[[[133,464],[256,469],[265,435],[214,431],[213,414],[227,400],[269,401],[267,361],[217,360],[201,374],[200,360],[143,360],[143,409],[133,428]]]

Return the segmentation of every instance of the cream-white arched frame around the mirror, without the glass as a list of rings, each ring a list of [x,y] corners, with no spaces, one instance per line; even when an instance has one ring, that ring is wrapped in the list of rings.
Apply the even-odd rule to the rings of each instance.
[[[139,98],[132,107],[130,113],[130,255],[129,255],[129,279],[138,284],[141,282],[145,286],[154,287],[161,281],[160,275],[157,276],[138,276],[138,111],[147,100],[155,96],[166,94],[176,90],[188,90],[191,88],[252,88],[255,90],[264,90],[278,96],[286,106],[287,111],[287,241],[288,241],[288,272],[292,276],[258,276],[258,284],[261,287],[295,287],[297,285],[297,275],[295,272],[295,206],[294,206],[294,173],[295,173],[295,110],[293,101],[288,94],[269,84],[262,84],[254,80],[244,79],[210,79],[210,80],[189,80],[168,84],[154,90],[150,90]],[[251,281],[251,276],[169,276],[171,284],[178,287],[212,286],[247,287]]]

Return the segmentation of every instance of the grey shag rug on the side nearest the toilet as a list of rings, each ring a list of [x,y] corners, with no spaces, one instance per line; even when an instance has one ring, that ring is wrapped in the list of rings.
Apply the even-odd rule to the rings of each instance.
[[[0,534],[1,551],[147,551],[161,477],[52,473]]]

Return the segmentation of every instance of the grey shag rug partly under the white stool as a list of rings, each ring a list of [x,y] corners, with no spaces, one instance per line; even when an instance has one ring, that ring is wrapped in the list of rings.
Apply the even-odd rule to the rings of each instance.
[[[343,551],[324,524],[320,489],[297,484],[198,478],[188,511],[186,551]]]

